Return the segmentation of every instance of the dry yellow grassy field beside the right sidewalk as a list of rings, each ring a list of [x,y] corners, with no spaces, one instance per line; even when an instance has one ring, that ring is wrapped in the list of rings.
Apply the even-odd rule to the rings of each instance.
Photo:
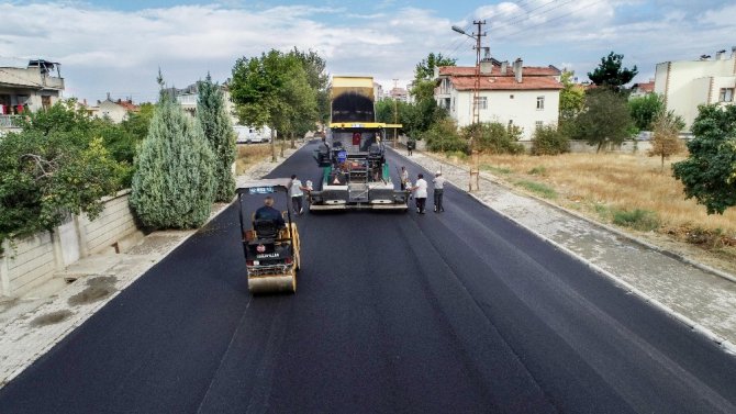
[[[685,200],[670,168],[680,159],[666,161],[663,172],[659,158],[644,154],[481,155],[479,164],[536,197],[653,242],[677,242],[690,248],[684,253],[696,246],[695,253],[726,260],[720,267],[736,269],[736,209],[707,215],[704,206]]]

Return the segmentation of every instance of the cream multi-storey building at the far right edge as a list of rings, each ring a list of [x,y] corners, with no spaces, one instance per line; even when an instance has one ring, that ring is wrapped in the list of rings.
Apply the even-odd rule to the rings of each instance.
[[[731,55],[720,51],[715,58],[665,61],[657,65],[655,92],[665,97],[668,111],[674,111],[690,130],[700,104],[733,104],[736,89],[736,46]]]

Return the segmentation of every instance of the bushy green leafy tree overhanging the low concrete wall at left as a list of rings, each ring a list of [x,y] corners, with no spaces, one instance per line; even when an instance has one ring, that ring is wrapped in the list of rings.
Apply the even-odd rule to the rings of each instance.
[[[120,168],[74,101],[30,114],[0,139],[0,240],[51,231],[68,213],[94,219],[121,188]]]

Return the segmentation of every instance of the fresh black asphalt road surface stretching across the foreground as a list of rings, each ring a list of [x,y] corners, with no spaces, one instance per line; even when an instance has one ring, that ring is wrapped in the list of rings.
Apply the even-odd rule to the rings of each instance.
[[[316,182],[314,145],[272,177]],[[247,292],[231,206],[1,389],[0,413],[736,412],[736,358],[445,198],[300,216],[295,295]]]

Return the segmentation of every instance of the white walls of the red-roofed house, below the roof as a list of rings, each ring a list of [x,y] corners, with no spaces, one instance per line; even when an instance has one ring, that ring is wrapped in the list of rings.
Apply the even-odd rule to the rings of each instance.
[[[450,115],[457,121],[458,126],[472,123],[472,92],[457,90],[450,93],[453,104]],[[536,130],[537,122],[544,125],[557,124],[559,113],[558,90],[503,90],[481,91],[480,97],[486,97],[488,105],[480,110],[481,122],[500,122],[508,125],[512,121],[514,125],[522,127],[522,139],[531,139]],[[544,109],[537,109],[537,98],[544,98]]]

